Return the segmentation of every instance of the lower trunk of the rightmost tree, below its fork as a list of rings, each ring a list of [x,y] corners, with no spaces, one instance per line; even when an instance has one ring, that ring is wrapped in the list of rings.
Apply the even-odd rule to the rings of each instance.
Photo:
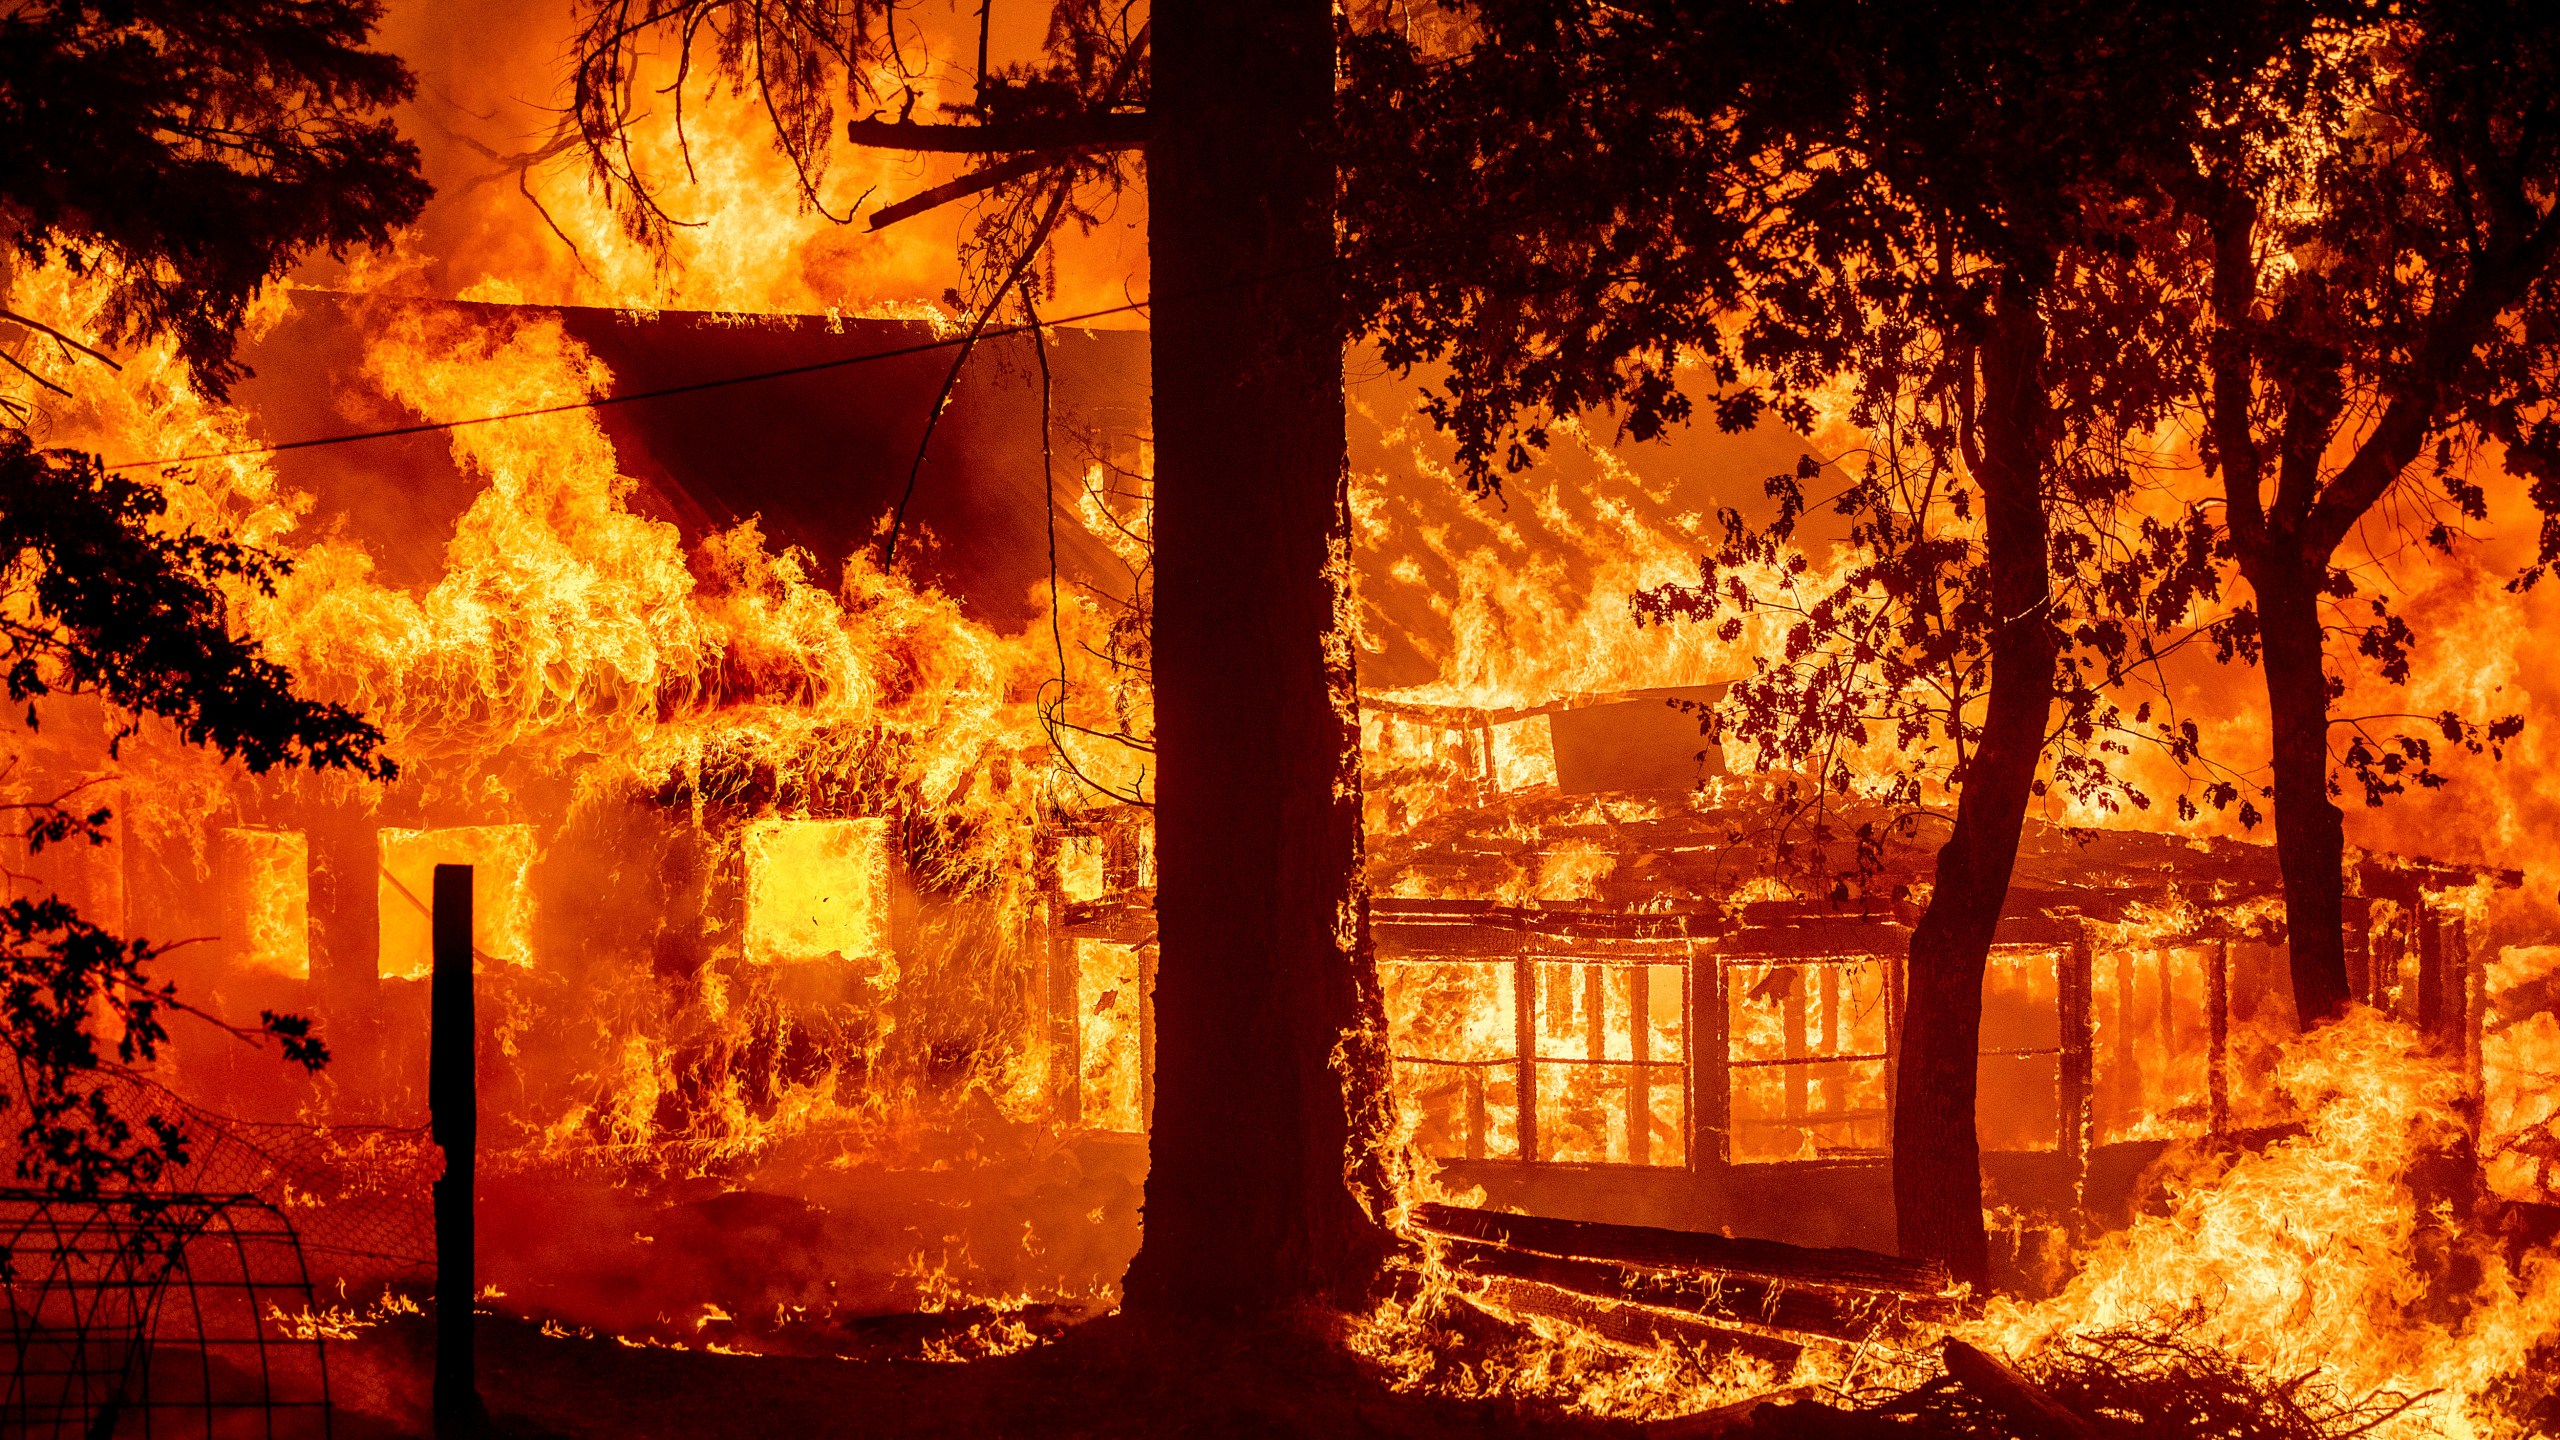
[[[2271,546],[2284,548],[2284,541]],[[2276,866],[2294,963],[2294,1012],[2309,1030],[2348,1010],[2348,833],[2330,799],[2330,679],[2319,643],[2319,569],[2268,553],[2258,592],[2268,725],[2276,740]]]

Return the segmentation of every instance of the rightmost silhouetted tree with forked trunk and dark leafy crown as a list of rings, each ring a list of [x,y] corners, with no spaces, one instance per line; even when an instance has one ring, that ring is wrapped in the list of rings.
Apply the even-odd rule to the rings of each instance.
[[[2450,551],[2486,520],[2488,446],[2560,559],[2560,18],[2547,5],[2376,8],[2304,59],[2296,95],[2232,92],[2150,231],[2163,315],[2194,325],[2181,389],[2222,479],[2214,553],[2253,602],[2235,651],[2266,669],[2276,846],[2304,1017],[2348,999],[2348,784],[2437,787],[2437,746],[2501,751],[2522,717],[2335,715],[2332,641],[2406,684],[2414,630],[2340,548],[2368,518]],[[2212,584],[2199,587],[2209,592]]]

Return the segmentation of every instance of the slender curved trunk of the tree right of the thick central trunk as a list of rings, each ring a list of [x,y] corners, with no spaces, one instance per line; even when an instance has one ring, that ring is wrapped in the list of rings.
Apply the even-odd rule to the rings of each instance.
[[[2017,835],[2053,712],[2058,641],[2045,559],[2045,331],[2035,295],[2004,284],[1981,354],[1984,551],[1999,628],[1992,694],[1938,851],[1938,884],[1912,930],[1910,1007],[1894,1089],[1894,1225],[1905,1256],[1989,1279],[1981,1140],[1974,1125],[1981,976],[2010,897]]]

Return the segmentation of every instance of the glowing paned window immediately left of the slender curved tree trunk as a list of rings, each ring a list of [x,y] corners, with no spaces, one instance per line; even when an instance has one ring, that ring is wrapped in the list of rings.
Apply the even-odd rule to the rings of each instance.
[[[1725,969],[1736,1163],[1884,1150],[1884,958]]]

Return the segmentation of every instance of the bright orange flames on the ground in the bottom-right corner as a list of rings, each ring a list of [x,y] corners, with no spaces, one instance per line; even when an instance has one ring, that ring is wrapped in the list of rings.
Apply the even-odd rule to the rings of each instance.
[[[2299,1138],[2199,1156],[2166,1212],[2099,1238],[2051,1302],[1994,1299],[1979,1335],[2028,1353],[2202,1302],[2202,1335],[2271,1376],[2422,1396],[2391,1435],[2524,1435],[2483,1402],[2560,1332],[2560,1263],[2511,1261],[2422,1194],[2429,1156],[2463,1145],[2460,1066],[2358,1010],[2291,1045],[2278,1086]]]

